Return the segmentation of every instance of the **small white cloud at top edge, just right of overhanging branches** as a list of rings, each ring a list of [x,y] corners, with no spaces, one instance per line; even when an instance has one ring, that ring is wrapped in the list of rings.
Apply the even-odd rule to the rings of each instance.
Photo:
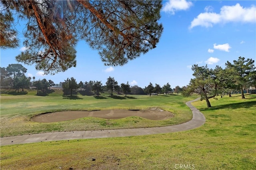
[[[176,11],[188,10],[192,5],[192,2],[186,0],[169,0],[164,4],[162,10],[174,15]]]

